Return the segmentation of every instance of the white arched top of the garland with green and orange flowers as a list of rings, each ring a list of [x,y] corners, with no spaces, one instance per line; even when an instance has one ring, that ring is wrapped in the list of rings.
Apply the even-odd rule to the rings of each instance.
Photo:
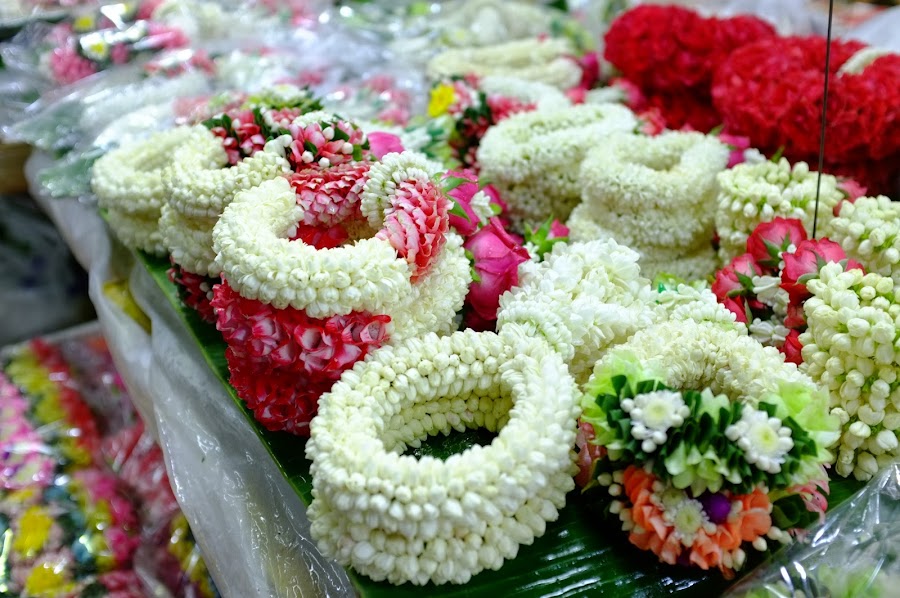
[[[706,388],[731,401],[754,405],[785,385],[821,392],[797,366],[784,361],[774,347],[763,347],[747,336],[746,328],[695,320],[661,322],[635,333],[628,342],[607,352],[594,372],[606,371],[609,361],[629,356],[651,371],[665,372],[672,388]]]

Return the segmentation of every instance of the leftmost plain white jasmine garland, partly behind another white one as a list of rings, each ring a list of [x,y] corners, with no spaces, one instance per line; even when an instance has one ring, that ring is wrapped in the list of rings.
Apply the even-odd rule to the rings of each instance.
[[[123,145],[94,163],[91,187],[100,208],[156,220],[166,202],[163,170],[176,149],[193,137],[190,127],[155,133],[144,141]]]

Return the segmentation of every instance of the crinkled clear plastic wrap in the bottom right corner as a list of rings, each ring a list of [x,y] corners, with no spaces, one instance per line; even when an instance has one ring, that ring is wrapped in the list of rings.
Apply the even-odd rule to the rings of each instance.
[[[728,596],[896,596],[900,579],[900,464],[882,471],[801,541],[761,565]]]

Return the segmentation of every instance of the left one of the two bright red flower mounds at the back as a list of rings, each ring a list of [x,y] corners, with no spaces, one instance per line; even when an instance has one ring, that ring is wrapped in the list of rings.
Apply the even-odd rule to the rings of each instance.
[[[647,96],[669,128],[708,131],[719,122],[713,76],[728,55],[775,29],[756,17],[704,18],[680,6],[641,5],[606,33],[604,56]]]

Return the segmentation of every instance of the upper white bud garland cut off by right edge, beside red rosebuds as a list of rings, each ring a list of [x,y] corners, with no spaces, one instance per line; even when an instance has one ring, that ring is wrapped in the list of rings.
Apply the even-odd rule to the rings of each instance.
[[[889,276],[900,286],[900,204],[884,195],[845,201],[839,217],[831,221],[828,238],[866,272]]]

